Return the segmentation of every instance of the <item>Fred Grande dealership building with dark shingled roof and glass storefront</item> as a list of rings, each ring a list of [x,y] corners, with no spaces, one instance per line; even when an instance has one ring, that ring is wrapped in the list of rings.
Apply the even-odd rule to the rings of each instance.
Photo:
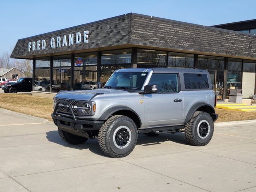
[[[11,58],[33,60],[37,95],[94,89],[120,68],[175,67],[208,70],[219,100],[230,88],[249,98],[256,94],[255,28],[253,20],[210,27],[129,13],[20,39]]]

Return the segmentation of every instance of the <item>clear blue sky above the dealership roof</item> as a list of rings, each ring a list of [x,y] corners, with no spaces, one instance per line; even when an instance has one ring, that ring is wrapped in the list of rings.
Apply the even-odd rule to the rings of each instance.
[[[20,38],[130,12],[206,26],[256,19],[253,0],[4,0],[0,54]]]

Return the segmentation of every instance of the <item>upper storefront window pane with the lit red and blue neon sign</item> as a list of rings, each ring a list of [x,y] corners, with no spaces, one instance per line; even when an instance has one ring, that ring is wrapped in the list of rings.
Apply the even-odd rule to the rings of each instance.
[[[74,66],[97,65],[98,53],[75,54]]]

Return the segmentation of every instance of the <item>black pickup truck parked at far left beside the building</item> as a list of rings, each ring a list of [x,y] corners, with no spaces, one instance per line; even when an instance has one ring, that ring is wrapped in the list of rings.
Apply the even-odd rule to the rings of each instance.
[[[32,91],[32,78],[19,78],[15,83],[6,83],[2,90],[5,93],[30,92]]]

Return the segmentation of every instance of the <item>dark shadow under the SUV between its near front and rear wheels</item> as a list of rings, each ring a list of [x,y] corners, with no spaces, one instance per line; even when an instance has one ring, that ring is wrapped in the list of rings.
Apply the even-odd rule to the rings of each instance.
[[[184,133],[176,133],[176,134],[165,133],[165,134],[160,134],[154,137],[146,136],[144,134],[139,134],[137,145],[149,146],[149,145],[161,144],[161,142],[168,142],[168,141],[184,144],[184,145],[190,145],[186,141]]]

